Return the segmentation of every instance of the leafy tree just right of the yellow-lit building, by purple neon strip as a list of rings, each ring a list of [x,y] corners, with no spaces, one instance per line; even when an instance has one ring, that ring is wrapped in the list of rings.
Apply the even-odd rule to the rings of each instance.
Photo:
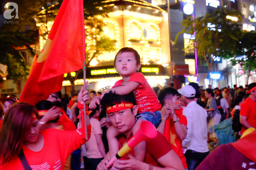
[[[235,16],[238,21],[227,19],[226,16]],[[198,57],[206,61],[210,75],[213,64],[212,56],[227,57],[228,55],[232,56],[232,53],[234,53],[235,42],[238,41],[241,35],[237,24],[240,20],[240,13],[236,11],[228,12],[224,9],[217,9],[213,14],[206,14],[195,18],[195,20],[190,17],[182,21],[181,26],[184,29],[176,35],[176,40],[180,34],[193,35],[194,32],[196,33],[194,41],[197,46],[195,48],[197,49]],[[191,43],[191,45],[194,46],[194,43]],[[211,79],[210,84],[212,84]]]

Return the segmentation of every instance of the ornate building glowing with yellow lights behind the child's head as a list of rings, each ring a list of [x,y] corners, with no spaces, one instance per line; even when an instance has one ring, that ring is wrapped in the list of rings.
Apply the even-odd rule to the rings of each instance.
[[[141,56],[140,72],[145,75],[149,84],[152,87],[166,86],[166,79],[169,79],[166,72],[171,62],[166,11],[144,0],[105,0],[96,7],[98,10],[103,8],[110,11],[109,17],[96,17],[106,24],[103,27],[104,34],[113,40],[113,46],[117,51],[123,47],[136,49]],[[52,10],[50,13],[55,15],[54,9],[50,10]],[[44,10],[41,11],[35,18],[43,17],[44,13]],[[40,23],[37,26],[42,28],[42,33],[46,33],[50,31],[52,24],[53,21],[48,22],[47,29]],[[88,29],[87,26],[85,29]],[[47,36],[40,36],[40,49],[43,49],[46,38]],[[85,40],[88,48],[91,43],[95,43],[89,37],[85,37]],[[103,53],[90,61],[87,67],[89,89],[104,90],[104,88],[112,87],[116,80],[121,79],[113,68],[113,60],[117,51]],[[75,84],[78,91],[83,84],[82,74],[78,76]],[[70,82],[63,81],[63,86],[70,86]]]

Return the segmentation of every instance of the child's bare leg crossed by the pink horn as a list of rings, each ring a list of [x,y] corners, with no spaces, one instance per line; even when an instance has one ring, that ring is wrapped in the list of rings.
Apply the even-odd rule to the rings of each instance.
[[[137,131],[139,130],[139,127],[141,126],[141,120],[138,119],[134,129],[133,129],[133,134],[135,135],[135,133],[137,133]],[[147,152],[147,144],[146,141],[142,141],[139,144],[137,144],[134,147],[134,154],[135,154],[135,158],[139,159],[140,161],[144,161],[145,156],[146,156],[146,152]]]

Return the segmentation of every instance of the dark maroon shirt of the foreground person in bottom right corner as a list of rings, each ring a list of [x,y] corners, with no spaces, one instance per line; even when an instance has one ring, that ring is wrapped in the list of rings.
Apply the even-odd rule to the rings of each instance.
[[[253,151],[252,151],[253,152]],[[216,148],[196,170],[255,170],[255,163],[232,144],[223,144]]]

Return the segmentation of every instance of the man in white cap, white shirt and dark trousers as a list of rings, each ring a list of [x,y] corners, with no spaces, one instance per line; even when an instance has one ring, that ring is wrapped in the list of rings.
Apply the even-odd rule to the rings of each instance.
[[[187,136],[182,141],[182,146],[187,151],[185,157],[188,170],[194,170],[210,153],[207,145],[207,112],[195,102],[196,90],[186,85],[178,92],[182,95],[182,101],[187,104],[183,115],[187,117]]]

